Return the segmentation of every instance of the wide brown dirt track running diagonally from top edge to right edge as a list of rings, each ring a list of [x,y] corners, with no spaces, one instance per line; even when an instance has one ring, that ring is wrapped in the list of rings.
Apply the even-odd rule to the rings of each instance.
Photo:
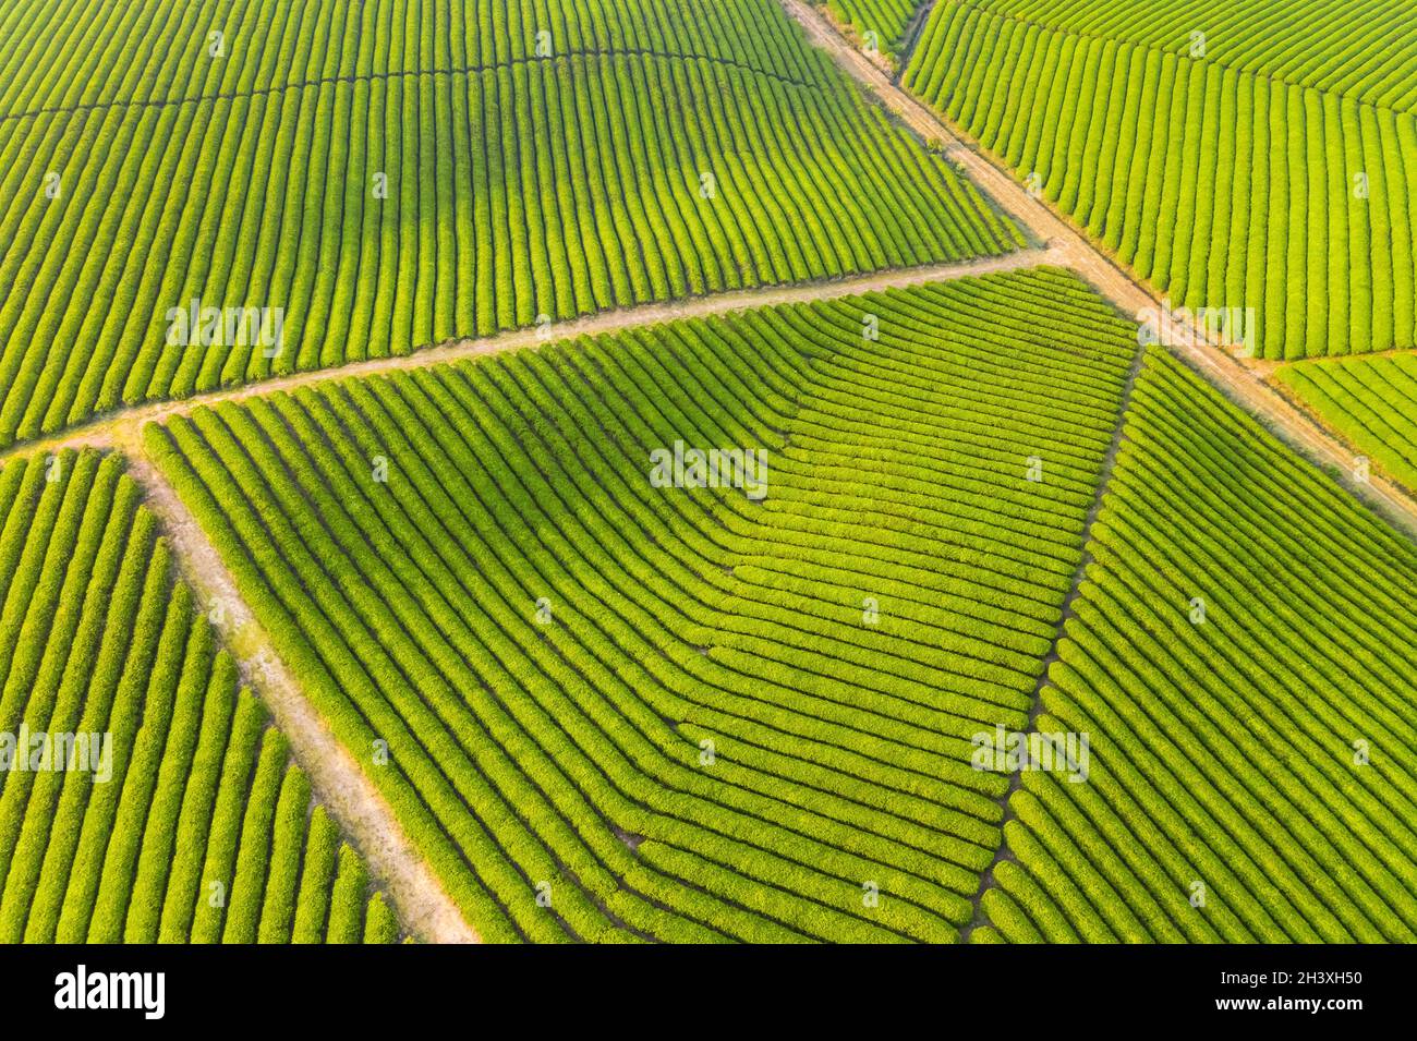
[[[1053,263],[1073,268],[1094,289],[1131,319],[1144,310],[1158,310],[1159,299],[1127,275],[1063,217],[1034,198],[1009,173],[1000,170],[922,102],[908,95],[860,54],[816,8],[805,0],[778,0],[805,30],[811,42],[828,51],[857,82],[866,86],[896,116],[925,140],[945,143],[945,156],[959,163],[969,180],[1000,210],[1009,214],[1036,242],[1044,244]],[[1179,320],[1178,320],[1179,323]],[[1417,501],[1391,482],[1370,476],[1353,479],[1355,452],[1340,436],[1321,426],[1314,416],[1295,408],[1265,382],[1272,371],[1261,363],[1246,363],[1224,350],[1204,329],[1186,323],[1197,346],[1173,346],[1176,357],[1204,375],[1227,398],[1257,416],[1270,431],[1312,462],[1333,467],[1342,483],[1374,506],[1391,523],[1417,537]]]

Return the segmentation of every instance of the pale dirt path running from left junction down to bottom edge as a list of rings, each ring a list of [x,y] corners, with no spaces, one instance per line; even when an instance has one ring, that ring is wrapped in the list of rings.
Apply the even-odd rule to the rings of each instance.
[[[115,448],[123,449],[128,473],[142,486],[145,503],[162,521],[183,578],[201,603],[221,606],[213,620],[237,659],[242,678],[269,705],[276,725],[290,741],[296,762],[309,775],[326,809],[353,836],[370,874],[388,892],[400,921],[428,943],[476,943],[478,935],[408,841],[378,789],[324,725],[295,677],[271,650],[269,637],[241,601],[235,579],[186,503],[136,443],[125,440]]]

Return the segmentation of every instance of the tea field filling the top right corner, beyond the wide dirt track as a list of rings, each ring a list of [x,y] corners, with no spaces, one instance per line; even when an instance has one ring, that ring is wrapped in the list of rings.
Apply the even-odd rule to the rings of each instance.
[[[1134,7],[942,0],[904,82],[1230,341],[1268,358],[1417,346],[1400,4]]]

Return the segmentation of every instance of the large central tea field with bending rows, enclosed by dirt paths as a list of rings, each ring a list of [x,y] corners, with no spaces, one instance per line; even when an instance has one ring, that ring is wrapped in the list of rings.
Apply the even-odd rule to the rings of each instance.
[[[483,936],[948,940],[1003,792],[969,739],[1026,722],[1134,350],[1039,271],[200,409],[149,450],[341,739],[388,742],[373,779]],[[771,490],[652,487],[676,442],[768,453]]]

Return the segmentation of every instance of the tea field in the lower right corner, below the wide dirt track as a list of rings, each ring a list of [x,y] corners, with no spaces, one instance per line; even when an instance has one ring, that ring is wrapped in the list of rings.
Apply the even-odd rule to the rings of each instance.
[[[1161,351],[1124,435],[1039,721],[1090,775],[1024,772],[995,929],[1413,942],[1417,550]]]

